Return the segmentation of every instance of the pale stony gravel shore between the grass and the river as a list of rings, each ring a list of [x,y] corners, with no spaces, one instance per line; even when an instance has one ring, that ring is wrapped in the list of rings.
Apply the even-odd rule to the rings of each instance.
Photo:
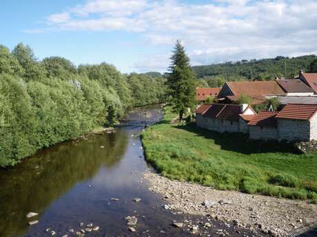
[[[305,201],[221,191],[196,183],[172,181],[146,172],[150,190],[168,201],[165,209],[178,214],[209,216],[272,236],[298,236],[317,226],[317,205]]]

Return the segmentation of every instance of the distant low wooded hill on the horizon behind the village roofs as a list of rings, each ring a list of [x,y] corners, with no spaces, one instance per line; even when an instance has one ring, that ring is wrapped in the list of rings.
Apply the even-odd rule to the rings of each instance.
[[[307,67],[315,55],[299,57],[267,58],[260,60],[241,60],[235,63],[219,63],[214,65],[192,67],[198,78],[223,78],[225,80],[273,80],[276,76],[285,76],[285,64],[287,78],[298,75],[298,72]],[[212,77],[212,78],[211,78]]]

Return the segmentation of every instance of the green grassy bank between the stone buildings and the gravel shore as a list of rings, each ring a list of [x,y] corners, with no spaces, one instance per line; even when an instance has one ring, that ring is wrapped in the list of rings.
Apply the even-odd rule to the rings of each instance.
[[[240,134],[221,134],[192,124],[164,120],[142,134],[147,161],[165,177],[289,199],[317,201],[317,156],[291,146],[249,142]]]

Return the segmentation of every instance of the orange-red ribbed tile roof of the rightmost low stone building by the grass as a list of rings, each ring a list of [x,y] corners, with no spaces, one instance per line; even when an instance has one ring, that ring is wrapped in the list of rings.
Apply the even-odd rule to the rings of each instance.
[[[317,104],[287,104],[276,118],[289,120],[310,120],[317,111]]]

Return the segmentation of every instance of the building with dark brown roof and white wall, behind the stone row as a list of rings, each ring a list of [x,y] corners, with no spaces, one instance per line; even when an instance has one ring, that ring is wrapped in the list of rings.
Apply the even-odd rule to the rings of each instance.
[[[276,80],[287,96],[311,96],[314,90],[299,79]]]

